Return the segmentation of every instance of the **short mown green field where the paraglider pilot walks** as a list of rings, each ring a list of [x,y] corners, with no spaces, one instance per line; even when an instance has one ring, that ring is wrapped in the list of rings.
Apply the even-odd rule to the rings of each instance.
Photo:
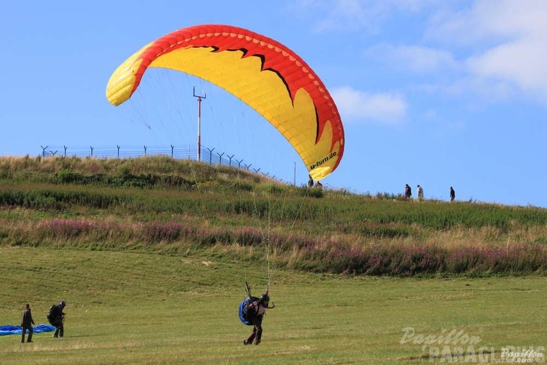
[[[0,324],[19,324],[30,302],[37,324],[65,300],[65,338],[0,337],[1,364],[421,364],[439,348],[475,351],[468,363],[501,360],[503,348],[547,346],[544,277],[416,279],[341,277],[277,270],[276,304],[260,346],[238,304],[260,266],[199,256],[0,247]],[[403,341],[403,328],[414,337]],[[462,330],[456,344],[427,338]],[[454,337],[455,338],[455,337]],[[404,342],[404,343],[401,343]],[[509,347],[510,348],[510,347]],[[512,349],[512,348],[510,348]],[[543,349],[543,350],[542,350]],[[446,355],[446,353],[445,353]],[[457,361],[454,361],[457,360]],[[461,360],[461,361],[459,361]]]

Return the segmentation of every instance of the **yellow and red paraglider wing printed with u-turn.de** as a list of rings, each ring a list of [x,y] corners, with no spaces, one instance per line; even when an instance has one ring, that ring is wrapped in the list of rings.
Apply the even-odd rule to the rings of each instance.
[[[247,103],[287,138],[314,180],[338,167],[344,151],[338,109],[303,59],[274,39],[233,26],[177,30],[116,69],[106,88],[108,101],[128,100],[148,67],[195,75]]]

